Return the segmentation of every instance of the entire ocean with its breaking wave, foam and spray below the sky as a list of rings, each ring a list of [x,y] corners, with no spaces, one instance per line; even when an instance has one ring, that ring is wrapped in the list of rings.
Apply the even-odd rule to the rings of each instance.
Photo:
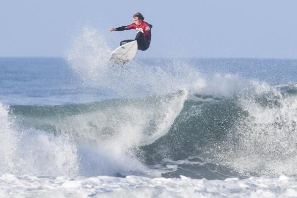
[[[297,197],[297,60],[110,51],[0,58],[0,197]]]

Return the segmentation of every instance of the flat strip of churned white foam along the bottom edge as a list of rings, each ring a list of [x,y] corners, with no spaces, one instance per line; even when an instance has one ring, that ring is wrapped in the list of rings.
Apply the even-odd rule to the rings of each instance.
[[[0,177],[1,197],[138,197],[138,198],[292,198],[297,197],[297,179],[251,177],[239,180],[165,179],[139,176],[119,177]]]

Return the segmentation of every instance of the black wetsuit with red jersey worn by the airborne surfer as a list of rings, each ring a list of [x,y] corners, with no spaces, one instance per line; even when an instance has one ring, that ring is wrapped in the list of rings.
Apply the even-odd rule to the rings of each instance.
[[[150,30],[149,31],[145,30],[147,26],[149,26],[149,28],[152,28],[152,25],[148,24],[145,21],[142,21],[141,24],[139,24],[139,25],[136,25],[135,23],[132,23],[131,25],[115,28],[115,31],[135,29],[136,32],[137,32],[135,40],[137,41],[138,49],[145,51],[149,47],[150,38],[151,38]],[[126,43],[129,43],[131,41],[135,41],[135,40],[121,41],[120,46],[124,45]]]

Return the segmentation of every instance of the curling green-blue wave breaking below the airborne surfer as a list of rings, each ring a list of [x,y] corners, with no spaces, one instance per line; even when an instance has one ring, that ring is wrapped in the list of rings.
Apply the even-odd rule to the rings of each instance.
[[[40,147],[44,136],[62,150],[69,148],[65,152],[74,153],[73,164],[78,163],[74,175],[149,175],[154,167],[163,168],[164,177],[182,172],[208,179],[296,175],[295,84],[246,85],[232,88],[232,97],[180,91],[73,105],[14,105],[3,112],[13,117],[15,129],[6,128],[16,133],[9,133],[27,142],[21,147]],[[20,139],[11,139],[21,145]]]

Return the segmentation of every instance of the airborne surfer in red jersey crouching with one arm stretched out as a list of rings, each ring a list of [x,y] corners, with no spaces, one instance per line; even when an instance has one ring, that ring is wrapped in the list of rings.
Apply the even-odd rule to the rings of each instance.
[[[152,28],[152,25],[145,22],[144,19],[145,17],[140,12],[137,12],[133,16],[134,23],[132,23],[131,25],[122,26],[118,28],[110,28],[109,32],[135,29],[137,32],[135,40],[137,41],[138,49],[145,51],[148,49],[150,44],[150,37],[151,37],[150,29]],[[135,40],[121,41],[120,46]]]

